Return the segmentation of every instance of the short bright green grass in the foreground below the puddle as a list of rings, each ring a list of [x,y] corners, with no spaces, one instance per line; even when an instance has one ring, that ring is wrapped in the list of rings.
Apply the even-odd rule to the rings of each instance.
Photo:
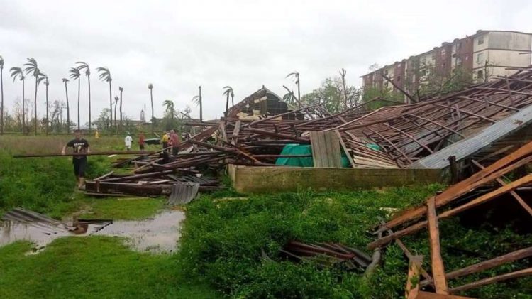
[[[65,237],[45,251],[32,244],[0,247],[0,298],[216,298],[178,280],[174,256],[131,251],[112,237]]]

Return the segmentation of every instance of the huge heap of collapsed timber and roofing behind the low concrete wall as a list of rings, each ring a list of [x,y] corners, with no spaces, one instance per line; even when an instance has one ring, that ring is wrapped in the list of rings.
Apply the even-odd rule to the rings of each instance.
[[[329,168],[446,168],[471,158],[492,161],[532,138],[531,69],[419,103],[365,109],[375,101],[381,99],[337,114],[322,105],[288,110],[263,87],[220,121],[189,122],[202,130],[179,145],[177,156],[162,151],[119,160],[116,167],[135,166],[131,175],[110,173],[87,190],[170,195],[184,181],[217,190],[219,182],[204,175],[227,164],[282,166],[282,159]],[[289,146],[310,150],[291,153]]]

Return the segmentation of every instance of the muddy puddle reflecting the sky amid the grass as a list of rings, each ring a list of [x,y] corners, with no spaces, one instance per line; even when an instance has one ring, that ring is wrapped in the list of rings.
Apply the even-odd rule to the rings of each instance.
[[[170,253],[177,249],[183,220],[184,212],[179,210],[165,210],[143,220],[80,220],[75,225],[47,219],[7,220],[0,221],[0,246],[18,240],[33,241],[38,252],[60,237],[99,235],[124,237],[124,242],[136,251]]]

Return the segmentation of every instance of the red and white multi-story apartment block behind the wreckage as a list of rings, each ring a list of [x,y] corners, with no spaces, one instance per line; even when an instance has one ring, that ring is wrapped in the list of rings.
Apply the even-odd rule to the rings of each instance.
[[[471,82],[484,82],[514,72],[507,70],[509,67],[531,65],[531,48],[531,33],[479,30],[472,36],[456,38],[452,43],[442,43],[425,53],[373,70],[361,76],[362,84],[365,89],[390,90],[397,89],[396,85],[414,94],[423,85],[443,82],[458,71]]]

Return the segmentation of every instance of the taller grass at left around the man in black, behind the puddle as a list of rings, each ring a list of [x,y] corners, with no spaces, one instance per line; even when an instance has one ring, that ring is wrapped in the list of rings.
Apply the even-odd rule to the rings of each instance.
[[[62,217],[75,210],[72,158],[12,158],[14,154],[60,153],[70,136],[0,136],[0,214],[13,207]],[[120,137],[87,138],[92,151],[121,149]],[[109,171],[109,159],[89,158],[87,178]]]

